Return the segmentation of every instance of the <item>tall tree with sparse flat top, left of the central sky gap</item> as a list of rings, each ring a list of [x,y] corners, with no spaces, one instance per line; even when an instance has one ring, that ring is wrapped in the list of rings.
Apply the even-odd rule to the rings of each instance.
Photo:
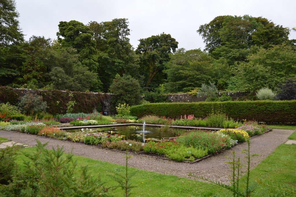
[[[128,74],[137,77],[139,73],[139,56],[130,44],[128,19],[119,18],[112,21],[88,24],[94,32],[96,49],[98,50],[98,74],[107,91],[116,74]],[[104,71],[104,72],[102,72]]]

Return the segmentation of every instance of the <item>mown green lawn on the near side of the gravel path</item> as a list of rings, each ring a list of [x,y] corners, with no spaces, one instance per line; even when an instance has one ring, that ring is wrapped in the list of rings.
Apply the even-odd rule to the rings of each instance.
[[[290,137],[296,137],[294,132]],[[252,147],[252,144],[251,144]],[[22,149],[24,152],[32,152],[35,148]],[[296,187],[296,145],[282,144],[271,155],[264,159],[258,166],[251,171],[251,180],[264,180],[273,182],[276,185],[282,185],[287,188]],[[19,155],[17,163],[22,169],[22,163],[25,157]],[[124,167],[116,164],[98,161],[81,156],[74,156],[79,166],[89,166],[92,175],[101,177],[106,181],[105,186],[113,186],[115,182],[110,179],[108,171],[122,171]],[[225,196],[225,190],[216,185],[199,182],[187,178],[180,178],[173,175],[163,175],[155,172],[148,172],[135,168],[129,168],[131,171],[137,171],[132,178],[133,185],[137,188],[132,189],[132,196],[212,196],[220,194]],[[264,196],[275,193],[276,189],[264,185],[259,185],[256,193],[252,196]],[[122,196],[121,189],[113,192],[114,196]]]

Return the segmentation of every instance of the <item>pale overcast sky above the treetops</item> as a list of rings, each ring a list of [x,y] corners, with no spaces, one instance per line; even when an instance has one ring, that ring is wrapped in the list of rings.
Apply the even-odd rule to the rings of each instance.
[[[178,48],[189,50],[204,49],[196,30],[220,15],[262,16],[277,25],[296,26],[295,0],[16,0],[16,4],[20,27],[27,40],[32,35],[56,39],[60,21],[87,24],[128,18],[134,47],[139,39],[164,32],[179,42]],[[296,31],[291,31],[290,39],[296,39]]]

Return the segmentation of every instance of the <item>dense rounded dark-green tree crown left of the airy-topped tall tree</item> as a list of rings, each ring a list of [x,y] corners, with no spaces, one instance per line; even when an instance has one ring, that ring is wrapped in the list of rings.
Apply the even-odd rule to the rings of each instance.
[[[75,48],[82,65],[88,67],[90,71],[97,71],[96,41],[93,39],[93,34],[87,25],[76,20],[59,22],[57,36],[61,46]]]

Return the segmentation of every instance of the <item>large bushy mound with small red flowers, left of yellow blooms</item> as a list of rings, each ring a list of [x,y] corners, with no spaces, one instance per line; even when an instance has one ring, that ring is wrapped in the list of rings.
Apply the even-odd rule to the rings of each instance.
[[[219,152],[223,148],[230,148],[233,145],[232,140],[228,136],[221,136],[218,133],[211,133],[204,130],[181,134],[176,138],[176,142],[186,147],[204,147],[208,150],[209,154]]]

